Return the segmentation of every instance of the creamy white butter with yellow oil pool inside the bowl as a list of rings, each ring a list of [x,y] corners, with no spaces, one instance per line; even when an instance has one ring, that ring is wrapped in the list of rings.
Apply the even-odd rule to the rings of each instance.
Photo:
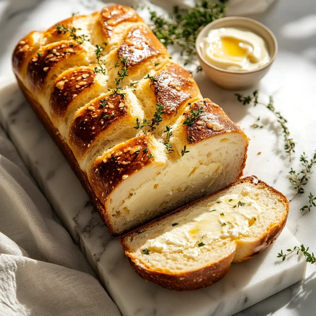
[[[201,41],[200,49],[209,64],[226,70],[255,70],[270,62],[260,36],[234,27],[210,30]]]

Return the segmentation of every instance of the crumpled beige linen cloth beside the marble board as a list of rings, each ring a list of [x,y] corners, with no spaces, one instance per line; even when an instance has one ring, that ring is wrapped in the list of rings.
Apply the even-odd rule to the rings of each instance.
[[[1,128],[0,315],[120,315]]]

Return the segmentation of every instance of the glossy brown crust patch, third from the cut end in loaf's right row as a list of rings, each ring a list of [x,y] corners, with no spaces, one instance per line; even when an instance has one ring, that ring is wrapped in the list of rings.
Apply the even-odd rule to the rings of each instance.
[[[130,70],[150,58],[159,55],[169,56],[169,53],[148,27],[136,25],[131,27],[123,39],[117,55],[119,60],[126,58],[126,68]]]

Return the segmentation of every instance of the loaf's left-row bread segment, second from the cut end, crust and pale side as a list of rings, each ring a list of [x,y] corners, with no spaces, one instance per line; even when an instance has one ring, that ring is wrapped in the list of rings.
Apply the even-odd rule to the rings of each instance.
[[[121,92],[101,94],[76,112],[68,142],[82,170],[96,156],[136,136],[133,127],[137,118],[143,119],[143,111],[130,90]]]

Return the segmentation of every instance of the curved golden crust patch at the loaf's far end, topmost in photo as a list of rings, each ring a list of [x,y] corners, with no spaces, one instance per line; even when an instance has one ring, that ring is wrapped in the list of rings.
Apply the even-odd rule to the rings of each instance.
[[[103,37],[108,39],[114,28],[123,22],[143,22],[143,19],[132,8],[115,4],[101,9],[96,23]]]

